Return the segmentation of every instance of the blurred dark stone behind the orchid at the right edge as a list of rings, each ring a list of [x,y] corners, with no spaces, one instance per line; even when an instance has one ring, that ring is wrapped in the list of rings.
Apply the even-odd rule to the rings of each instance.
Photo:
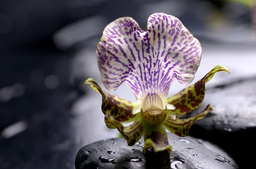
[[[255,85],[256,78],[250,78],[211,88],[200,109],[190,114],[195,115],[212,104],[215,110],[196,121],[189,134],[220,146],[234,158],[239,169],[251,168],[255,160],[255,155],[249,155],[256,152],[252,138],[256,133]]]

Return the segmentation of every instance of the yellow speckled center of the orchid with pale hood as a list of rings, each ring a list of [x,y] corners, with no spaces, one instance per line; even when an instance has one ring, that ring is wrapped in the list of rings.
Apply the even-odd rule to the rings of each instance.
[[[145,112],[144,112],[144,111]],[[166,119],[167,108],[157,95],[147,96],[141,109],[141,115],[149,125],[159,125]]]

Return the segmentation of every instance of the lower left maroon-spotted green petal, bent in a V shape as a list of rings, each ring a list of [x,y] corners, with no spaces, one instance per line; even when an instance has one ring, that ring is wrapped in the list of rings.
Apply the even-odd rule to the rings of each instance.
[[[124,127],[119,121],[113,118],[111,111],[105,113],[105,124],[109,128],[116,128],[125,138],[129,146],[133,146],[140,140],[144,131],[143,119],[141,117],[137,118],[133,124]]]

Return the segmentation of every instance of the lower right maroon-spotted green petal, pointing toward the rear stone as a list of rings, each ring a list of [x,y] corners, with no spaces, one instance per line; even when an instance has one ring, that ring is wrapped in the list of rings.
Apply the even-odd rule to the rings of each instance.
[[[174,119],[172,115],[169,115],[166,117],[166,120],[164,121],[163,125],[170,132],[180,137],[186,137],[189,135],[189,129],[192,126],[192,124],[194,124],[196,120],[204,118],[207,115],[207,113],[211,112],[212,110],[212,106],[209,104],[201,113],[191,118]]]

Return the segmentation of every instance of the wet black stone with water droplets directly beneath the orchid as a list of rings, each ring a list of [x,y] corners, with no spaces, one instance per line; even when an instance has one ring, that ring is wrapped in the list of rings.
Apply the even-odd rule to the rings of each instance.
[[[170,156],[167,151],[153,153],[152,149],[143,155],[143,139],[134,146],[123,138],[94,142],[79,150],[76,169],[238,169],[230,155],[208,141],[172,133],[168,139]]]

